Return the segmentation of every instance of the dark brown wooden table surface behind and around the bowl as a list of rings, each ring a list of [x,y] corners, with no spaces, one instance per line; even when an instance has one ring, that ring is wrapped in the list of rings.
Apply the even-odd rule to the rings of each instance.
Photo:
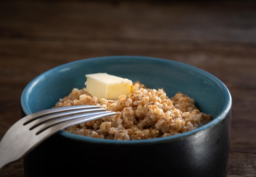
[[[256,176],[256,2],[0,1],[0,138],[20,95],[60,64],[140,55],[191,64],[233,98],[228,177]],[[1,158],[1,157],[0,157]],[[23,177],[22,160],[1,177]]]

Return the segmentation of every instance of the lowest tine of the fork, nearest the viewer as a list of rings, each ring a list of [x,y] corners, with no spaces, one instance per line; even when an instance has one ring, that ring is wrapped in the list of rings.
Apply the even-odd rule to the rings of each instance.
[[[100,119],[103,117],[112,116],[115,114],[116,113],[112,111],[104,111],[104,112],[86,113],[84,115],[74,115],[71,117],[65,117],[61,119],[54,119],[45,124],[41,124],[40,126],[34,128],[32,131],[36,133],[38,138],[45,139],[46,137],[49,137],[54,133],[61,131],[67,127],[74,126],[74,125],[81,124],[83,122],[88,122],[95,119]]]

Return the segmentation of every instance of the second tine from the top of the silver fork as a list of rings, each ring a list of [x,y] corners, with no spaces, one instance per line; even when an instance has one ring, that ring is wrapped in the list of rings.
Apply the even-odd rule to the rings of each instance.
[[[40,124],[46,123],[47,121],[53,121],[53,119],[57,119],[59,117],[72,116],[76,114],[85,114],[85,113],[94,113],[99,111],[106,111],[105,108],[90,108],[90,109],[78,109],[74,111],[64,111],[64,112],[56,112],[53,114],[46,115],[44,117],[40,117],[40,119],[36,119],[34,121],[29,122],[27,125],[30,127],[29,130],[32,130],[36,126]],[[69,117],[67,117],[69,118]]]

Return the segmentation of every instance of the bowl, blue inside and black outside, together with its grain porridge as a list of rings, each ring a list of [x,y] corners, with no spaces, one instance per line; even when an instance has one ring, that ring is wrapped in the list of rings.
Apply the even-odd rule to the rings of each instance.
[[[132,80],[130,93],[114,99],[90,93],[81,73],[100,72]],[[104,176],[111,169],[134,175],[127,169],[137,168],[137,176],[162,177],[173,171],[181,177],[227,176],[231,94],[206,71],[160,58],[87,58],[39,75],[21,96],[26,115],[76,104],[98,104],[117,116],[69,127],[46,139],[23,159],[26,177],[74,172]],[[100,170],[90,170],[95,165]]]

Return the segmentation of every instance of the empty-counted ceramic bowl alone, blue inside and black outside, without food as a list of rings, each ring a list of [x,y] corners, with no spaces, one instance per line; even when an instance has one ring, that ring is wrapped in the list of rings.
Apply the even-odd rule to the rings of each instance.
[[[170,137],[117,141],[60,131],[24,157],[26,177],[133,175],[226,177],[231,126],[231,94],[210,73],[188,64],[141,56],[107,56],[57,66],[34,78],[21,95],[24,115],[51,108],[85,74],[106,72],[140,81],[148,88],[178,91],[195,99],[213,120],[198,129]],[[95,167],[96,170],[92,170]]]

